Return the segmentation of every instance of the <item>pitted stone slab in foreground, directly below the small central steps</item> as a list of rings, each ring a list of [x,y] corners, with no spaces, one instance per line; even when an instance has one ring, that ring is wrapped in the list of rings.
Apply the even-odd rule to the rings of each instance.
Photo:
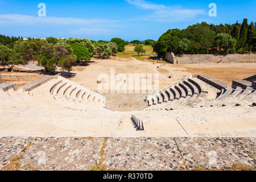
[[[185,169],[173,138],[108,139],[103,158],[108,168],[115,169]]]

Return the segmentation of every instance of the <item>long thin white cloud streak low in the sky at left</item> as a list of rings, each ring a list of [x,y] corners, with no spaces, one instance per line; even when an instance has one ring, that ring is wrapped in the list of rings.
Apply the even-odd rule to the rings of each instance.
[[[0,14],[0,24],[21,24],[21,25],[35,25],[35,24],[52,24],[52,25],[102,25],[109,23],[118,23],[120,20],[110,19],[82,19],[82,18],[63,18],[63,17],[39,17],[28,16],[20,14]]]

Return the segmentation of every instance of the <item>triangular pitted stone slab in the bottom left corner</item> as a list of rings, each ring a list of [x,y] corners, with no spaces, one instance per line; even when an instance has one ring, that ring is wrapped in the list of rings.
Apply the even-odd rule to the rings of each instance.
[[[31,141],[32,138],[26,137],[0,137],[0,168],[8,164]]]

